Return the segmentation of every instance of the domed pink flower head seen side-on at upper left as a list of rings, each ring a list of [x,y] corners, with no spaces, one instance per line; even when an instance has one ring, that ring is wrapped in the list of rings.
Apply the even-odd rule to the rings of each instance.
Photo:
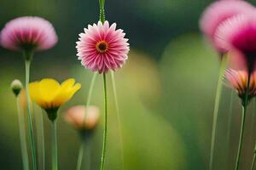
[[[0,44],[11,50],[45,50],[57,42],[54,27],[40,17],[24,16],[10,20],[0,33]]]

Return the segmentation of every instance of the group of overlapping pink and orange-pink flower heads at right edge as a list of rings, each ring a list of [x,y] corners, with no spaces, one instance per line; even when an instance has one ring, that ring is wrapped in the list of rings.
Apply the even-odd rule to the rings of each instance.
[[[242,0],[217,1],[204,12],[201,19],[201,30],[220,54],[229,54],[232,65],[241,69],[241,71],[229,70],[225,77],[231,82],[238,95],[244,99],[246,90],[241,90],[241,87],[236,85],[243,85],[242,89],[246,89],[248,78],[244,79],[245,75],[247,77],[251,74],[254,75],[256,8]],[[251,82],[254,83],[254,79],[255,77],[251,76]],[[251,94],[249,93],[249,95]],[[253,97],[255,95],[253,93]]]

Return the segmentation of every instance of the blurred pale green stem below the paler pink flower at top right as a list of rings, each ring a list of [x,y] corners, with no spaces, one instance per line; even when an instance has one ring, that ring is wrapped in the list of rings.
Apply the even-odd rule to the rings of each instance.
[[[217,121],[218,121],[218,105],[219,105],[222,88],[223,88],[222,82],[223,82],[223,75],[224,75],[224,70],[226,67],[226,62],[227,62],[226,57],[223,57],[223,59],[221,60],[220,68],[219,68],[218,85],[217,85],[217,91],[216,91],[216,97],[215,97],[215,104],[214,104],[214,111],[213,111],[213,122],[212,122],[212,141],[211,141],[211,154],[210,154],[210,163],[209,163],[210,170],[212,170],[212,164],[213,164],[216,129],[217,129]]]

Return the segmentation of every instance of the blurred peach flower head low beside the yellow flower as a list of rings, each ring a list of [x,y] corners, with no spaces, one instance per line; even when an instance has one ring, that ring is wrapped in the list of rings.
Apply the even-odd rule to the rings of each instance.
[[[86,108],[84,105],[76,105],[66,111],[65,120],[79,130],[93,130],[99,122],[99,117],[99,109],[96,106]]]

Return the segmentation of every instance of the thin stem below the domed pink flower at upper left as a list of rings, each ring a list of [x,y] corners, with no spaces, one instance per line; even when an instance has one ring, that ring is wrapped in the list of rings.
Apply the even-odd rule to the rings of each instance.
[[[38,169],[37,164],[37,153],[36,153],[36,144],[34,140],[34,134],[33,134],[33,127],[32,127],[32,113],[31,113],[31,106],[30,106],[30,95],[29,95],[29,75],[30,75],[30,60],[25,60],[25,68],[26,68],[26,105],[27,105],[27,111],[28,111],[28,122],[29,122],[29,138],[30,138],[30,146],[32,150],[32,165],[33,169]]]

